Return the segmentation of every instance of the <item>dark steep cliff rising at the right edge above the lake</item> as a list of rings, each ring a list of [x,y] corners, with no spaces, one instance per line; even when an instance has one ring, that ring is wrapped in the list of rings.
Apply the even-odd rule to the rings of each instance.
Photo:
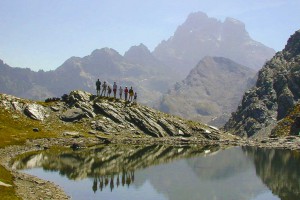
[[[284,118],[299,98],[300,30],[259,71],[256,86],[245,93],[224,129],[247,137],[264,132]]]

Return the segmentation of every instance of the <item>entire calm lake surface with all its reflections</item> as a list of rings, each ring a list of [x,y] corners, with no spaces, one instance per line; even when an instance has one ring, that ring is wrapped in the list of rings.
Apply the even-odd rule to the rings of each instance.
[[[24,155],[13,168],[72,199],[262,200],[299,199],[299,164],[299,152],[287,150],[101,145]]]

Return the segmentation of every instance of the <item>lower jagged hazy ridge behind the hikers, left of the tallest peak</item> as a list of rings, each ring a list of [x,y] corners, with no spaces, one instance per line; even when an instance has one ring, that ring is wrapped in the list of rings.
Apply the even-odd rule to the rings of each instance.
[[[110,85],[116,81],[122,87],[133,86],[143,97],[139,101],[151,105],[174,82],[163,66],[142,44],[129,49],[125,56],[109,48],[95,50],[83,58],[72,57],[48,72],[12,68],[0,61],[0,91],[30,99],[61,96],[74,89],[94,93],[95,81],[100,78]]]

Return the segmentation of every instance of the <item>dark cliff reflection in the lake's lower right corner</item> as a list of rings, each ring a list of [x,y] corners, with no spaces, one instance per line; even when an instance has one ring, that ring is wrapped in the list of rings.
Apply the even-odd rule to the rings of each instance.
[[[243,147],[257,175],[282,200],[300,199],[300,152]]]

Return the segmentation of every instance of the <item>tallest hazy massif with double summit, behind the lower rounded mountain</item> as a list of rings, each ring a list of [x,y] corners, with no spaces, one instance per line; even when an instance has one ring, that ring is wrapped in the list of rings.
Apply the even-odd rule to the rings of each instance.
[[[153,54],[184,78],[205,56],[229,58],[259,70],[275,51],[254,41],[245,24],[236,19],[226,18],[221,22],[196,12],[188,16],[171,38],[162,41]]]

